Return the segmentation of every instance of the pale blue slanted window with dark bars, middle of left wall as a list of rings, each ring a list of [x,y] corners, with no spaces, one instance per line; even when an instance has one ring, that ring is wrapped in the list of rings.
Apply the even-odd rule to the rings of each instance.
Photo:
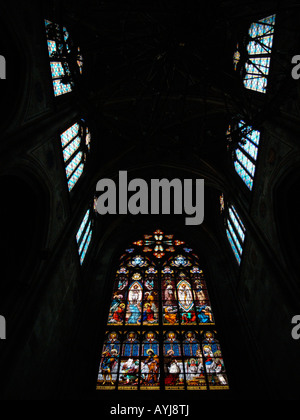
[[[64,131],[60,137],[68,189],[72,191],[83,174],[90,153],[91,133],[82,119]]]

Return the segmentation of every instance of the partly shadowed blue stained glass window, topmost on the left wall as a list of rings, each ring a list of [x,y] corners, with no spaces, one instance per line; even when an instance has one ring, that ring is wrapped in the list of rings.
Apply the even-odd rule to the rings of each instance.
[[[65,26],[45,20],[45,27],[54,95],[61,96],[72,92],[75,69],[83,73],[83,57]]]

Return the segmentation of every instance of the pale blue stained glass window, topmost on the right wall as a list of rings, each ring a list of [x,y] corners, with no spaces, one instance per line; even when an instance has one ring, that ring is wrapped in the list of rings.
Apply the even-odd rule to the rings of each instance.
[[[247,89],[266,93],[270,71],[276,15],[251,24],[248,60],[245,64],[244,85]]]

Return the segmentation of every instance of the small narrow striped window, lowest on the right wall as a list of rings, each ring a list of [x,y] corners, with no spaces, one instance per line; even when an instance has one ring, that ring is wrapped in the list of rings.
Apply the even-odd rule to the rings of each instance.
[[[238,264],[240,265],[243,255],[246,229],[233,205],[230,205],[228,207],[226,233],[235,258]]]

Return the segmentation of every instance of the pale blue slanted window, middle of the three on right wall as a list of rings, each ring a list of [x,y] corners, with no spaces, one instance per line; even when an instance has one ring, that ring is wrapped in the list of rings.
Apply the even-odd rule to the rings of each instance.
[[[245,185],[252,191],[260,142],[260,132],[254,130],[244,121],[240,121],[235,128],[229,128],[227,133],[229,139],[232,135],[232,129],[236,130],[236,133],[239,136],[239,141],[234,152],[234,168]]]

